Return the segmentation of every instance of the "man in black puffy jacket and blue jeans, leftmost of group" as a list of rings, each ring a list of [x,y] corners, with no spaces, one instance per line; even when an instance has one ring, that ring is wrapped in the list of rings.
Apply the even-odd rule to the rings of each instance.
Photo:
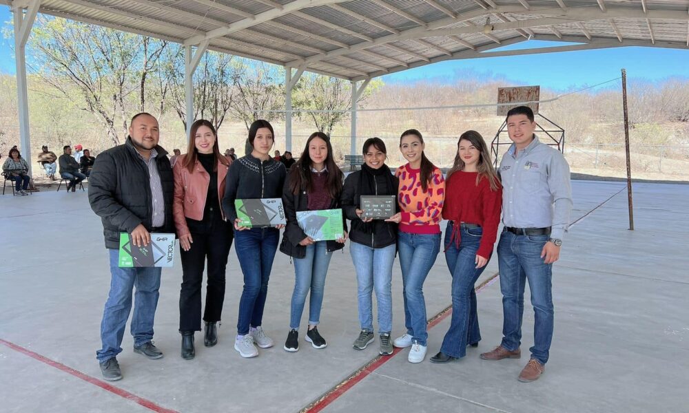
[[[130,233],[134,246],[147,246],[151,233],[174,233],[174,183],[167,151],[158,146],[158,121],[150,114],[132,118],[124,145],[101,153],[89,178],[91,209],[103,221],[105,248],[110,251],[110,293],[101,321],[103,348],[96,351],[105,380],[122,378],[116,356],[132,308],[134,352],[149,359],[163,353],[152,343],[153,321],[161,285],[160,267],[119,268],[120,233]]]

